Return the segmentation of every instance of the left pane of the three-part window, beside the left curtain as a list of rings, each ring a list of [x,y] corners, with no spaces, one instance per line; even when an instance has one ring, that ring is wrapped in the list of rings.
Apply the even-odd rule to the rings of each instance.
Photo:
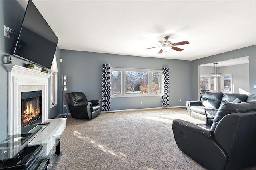
[[[122,94],[122,71],[111,71],[111,94]]]

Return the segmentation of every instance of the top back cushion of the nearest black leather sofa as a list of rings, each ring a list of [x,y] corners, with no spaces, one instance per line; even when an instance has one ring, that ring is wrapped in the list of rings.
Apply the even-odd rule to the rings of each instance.
[[[220,106],[218,109],[216,116],[213,119],[213,123],[211,126],[211,131],[214,132],[216,126],[219,121],[228,114],[233,113],[247,113],[250,111],[256,111],[256,101],[253,102],[242,102],[242,103],[232,103],[227,102],[224,105]]]

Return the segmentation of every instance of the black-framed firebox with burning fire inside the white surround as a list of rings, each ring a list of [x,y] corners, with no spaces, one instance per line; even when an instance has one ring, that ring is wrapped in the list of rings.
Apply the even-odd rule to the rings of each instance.
[[[21,126],[42,122],[42,91],[21,93]]]

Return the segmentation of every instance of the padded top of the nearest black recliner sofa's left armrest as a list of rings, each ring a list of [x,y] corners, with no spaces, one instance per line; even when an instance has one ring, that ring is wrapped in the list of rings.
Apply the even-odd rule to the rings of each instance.
[[[197,133],[197,134],[202,135],[207,138],[210,138],[212,136],[211,131],[209,131],[208,129],[206,129],[200,125],[196,125],[194,123],[188,122],[188,121],[174,119],[172,124],[176,125],[178,127],[182,127],[184,129],[187,129],[188,131],[192,131],[194,133]]]

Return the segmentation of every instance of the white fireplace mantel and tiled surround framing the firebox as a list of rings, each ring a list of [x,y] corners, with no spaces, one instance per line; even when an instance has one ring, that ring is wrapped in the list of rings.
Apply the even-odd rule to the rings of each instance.
[[[42,121],[46,121],[50,74],[17,65],[4,66],[8,71],[8,133],[21,127],[21,92],[42,90]]]

